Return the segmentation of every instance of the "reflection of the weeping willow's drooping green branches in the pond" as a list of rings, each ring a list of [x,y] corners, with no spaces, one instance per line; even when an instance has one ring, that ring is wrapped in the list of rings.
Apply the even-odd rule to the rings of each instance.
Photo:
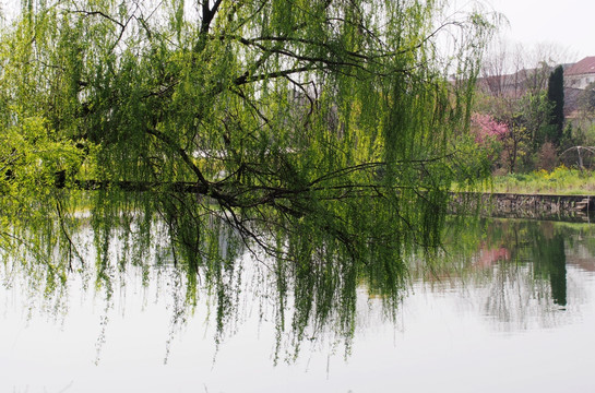
[[[394,314],[405,281],[400,259],[369,266],[329,260],[335,246],[317,239],[316,231],[309,243],[279,243],[279,249],[289,249],[287,258],[274,259],[243,242],[225,217],[200,211],[178,214],[183,198],[156,209],[148,195],[63,195],[57,199],[61,216],[44,203],[35,214],[15,216],[10,231],[1,234],[0,278],[5,286],[26,288],[32,312],[37,309],[58,320],[67,314],[69,301],[80,297],[79,287],[95,291],[105,306],[97,359],[110,314],[129,290],[155,288],[156,298],[168,298],[167,350],[199,310],[207,315],[218,345],[237,331],[248,308],[275,325],[277,357],[286,350],[293,360],[302,343],[325,340],[343,342],[348,350],[361,283]],[[197,219],[205,221],[201,225],[207,230],[193,231]],[[300,249],[291,249],[296,247]],[[293,253],[304,255],[296,261]]]

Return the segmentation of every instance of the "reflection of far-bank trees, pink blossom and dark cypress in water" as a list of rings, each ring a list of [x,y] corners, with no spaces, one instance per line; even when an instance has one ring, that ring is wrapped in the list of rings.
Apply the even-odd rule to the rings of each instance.
[[[585,224],[481,219],[447,234],[443,258],[410,274],[460,294],[461,311],[480,312],[499,330],[555,326],[584,302],[576,272],[595,271],[593,235]]]

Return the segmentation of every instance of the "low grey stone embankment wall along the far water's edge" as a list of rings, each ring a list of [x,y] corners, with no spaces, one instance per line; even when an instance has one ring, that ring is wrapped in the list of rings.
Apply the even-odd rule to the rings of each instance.
[[[493,217],[588,221],[595,211],[595,195],[457,193],[453,202],[454,213],[479,209],[480,214]]]

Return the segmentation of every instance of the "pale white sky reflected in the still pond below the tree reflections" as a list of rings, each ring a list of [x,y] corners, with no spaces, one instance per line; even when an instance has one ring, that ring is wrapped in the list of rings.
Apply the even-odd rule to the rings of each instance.
[[[347,361],[341,343],[306,342],[295,365],[276,367],[273,323],[267,315],[259,323],[260,308],[250,299],[218,352],[204,306],[187,315],[168,344],[174,300],[167,283],[175,281],[151,279],[143,288],[129,270],[100,343],[100,293],[80,298],[72,285],[68,313],[33,310],[27,322],[23,288],[13,279],[12,289],[0,289],[0,391],[595,391],[591,253],[582,243],[567,246],[566,307],[554,302],[548,279],[534,278],[534,264],[504,263],[508,258],[498,257],[480,274],[417,282],[396,325],[383,322],[380,300],[361,290]]]

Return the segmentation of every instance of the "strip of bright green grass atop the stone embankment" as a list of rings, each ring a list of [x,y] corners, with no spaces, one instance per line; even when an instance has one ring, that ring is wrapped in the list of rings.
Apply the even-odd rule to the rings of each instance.
[[[485,192],[524,194],[583,195],[595,194],[595,172],[569,169],[563,165],[552,171],[537,170],[529,174],[497,176]]]

